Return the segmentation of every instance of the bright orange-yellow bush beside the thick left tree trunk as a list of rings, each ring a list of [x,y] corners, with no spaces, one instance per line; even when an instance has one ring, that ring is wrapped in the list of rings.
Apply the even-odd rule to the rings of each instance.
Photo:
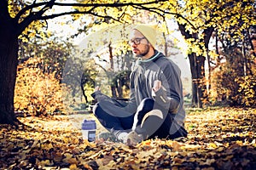
[[[41,67],[41,68],[40,68]],[[19,65],[15,86],[15,111],[30,116],[47,116],[55,111],[65,111],[62,85],[55,71],[42,69],[43,60],[31,58]]]

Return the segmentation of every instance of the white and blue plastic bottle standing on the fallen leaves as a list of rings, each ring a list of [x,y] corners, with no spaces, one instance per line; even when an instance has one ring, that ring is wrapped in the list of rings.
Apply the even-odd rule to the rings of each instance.
[[[86,120],[82,123],[83,139],[93,142],[96,139],[96,122],[94,120]]]

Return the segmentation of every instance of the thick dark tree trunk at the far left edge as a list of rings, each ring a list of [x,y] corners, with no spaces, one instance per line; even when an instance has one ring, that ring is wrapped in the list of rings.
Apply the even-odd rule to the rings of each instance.
[[[17,125],[14,97],[18,65],[18,37],[15,26],[3,22],[0,26],[0,123]]]

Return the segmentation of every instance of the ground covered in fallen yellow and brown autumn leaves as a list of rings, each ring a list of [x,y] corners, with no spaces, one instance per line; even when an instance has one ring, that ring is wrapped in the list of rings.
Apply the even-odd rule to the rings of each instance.
[[[84,141],[86,115],[20,118],[25,130],[0,125],[0,169],[256,169],[255,109],[188,112],[187,139],[136,146]]]

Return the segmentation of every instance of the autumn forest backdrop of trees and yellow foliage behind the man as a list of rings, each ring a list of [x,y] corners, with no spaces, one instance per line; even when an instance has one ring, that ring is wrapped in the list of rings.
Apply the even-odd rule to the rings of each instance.
[[[254,1],[9,0],[0,8],[1,124],[24,127],[24,116],[90,113],[96,84],[127,99],[134,62],[128,31],[148,23],[158,26],[160,50],[189,70],[183,77],[187,108],[255,108]],[[67,39],[47,29],[61,16],[68,16],[58,20],[61,26],[78,26]],[[77,37],[84,41],[74,44]],[[189,64],[181,65],[185,59]]]

